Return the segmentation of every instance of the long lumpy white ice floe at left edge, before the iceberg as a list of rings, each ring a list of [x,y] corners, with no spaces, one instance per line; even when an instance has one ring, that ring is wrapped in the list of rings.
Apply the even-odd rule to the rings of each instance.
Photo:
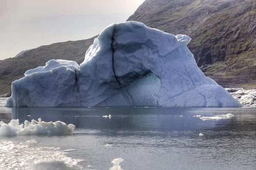
[[[44,122],[41,118],[38,122],[25,120],[24,124],[19,125],[19,119],[13,119],[8,124],[0,122],[0,136],[16,135],[43,135],[43,136],[67,136],[72,135],[75,125],[67,125],[64,122]]]

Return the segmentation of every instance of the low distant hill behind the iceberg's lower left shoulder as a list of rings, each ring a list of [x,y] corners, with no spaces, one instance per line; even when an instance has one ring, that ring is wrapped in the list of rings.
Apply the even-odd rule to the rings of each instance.
[[[68,59],[81,63],[95,37],[87,40],[58,42],[31,49],[19,57],[0,61],[0,95],[11,91],[11,84],[24,77],[25,71],[45,65],[50,59]]]

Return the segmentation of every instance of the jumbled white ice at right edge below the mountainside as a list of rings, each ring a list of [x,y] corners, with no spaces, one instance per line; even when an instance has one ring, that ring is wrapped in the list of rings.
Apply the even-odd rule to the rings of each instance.
[[[256,89],[226,88],[230,94],[244,106],[256,106]]]

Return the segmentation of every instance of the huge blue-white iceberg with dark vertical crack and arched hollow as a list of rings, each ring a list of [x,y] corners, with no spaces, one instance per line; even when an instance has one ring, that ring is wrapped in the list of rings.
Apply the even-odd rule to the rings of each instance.
[[[52,59],[12,82],[6,107],[239,107],[198,68],[186,35],[143,23],[111,24],[84,62]]]

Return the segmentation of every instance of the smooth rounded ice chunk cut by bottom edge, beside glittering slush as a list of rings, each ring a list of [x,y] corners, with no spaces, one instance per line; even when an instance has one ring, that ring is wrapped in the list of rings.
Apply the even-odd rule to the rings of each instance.
[[[32,170],[81,170],[76,164],[67,164],[64,161],[41,161],[32,166]]]

